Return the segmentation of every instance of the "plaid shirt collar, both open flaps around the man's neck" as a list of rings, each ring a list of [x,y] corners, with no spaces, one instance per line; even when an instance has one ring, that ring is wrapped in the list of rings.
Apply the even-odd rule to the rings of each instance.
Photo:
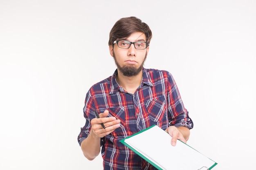
[[[112,75],[111,79],[110,79],[110,91],[109,94],[115,94],[118,91],[124,91],[124,89],[122,87],[120,87],[117,84],[117,69],[115,70],[114,74]],[[141,87],[143,86],[143,84],[146,84],[148,86],[153,86],[153,83],[148,75],[147,69],[146,68],[142,68],[142,81],[141,81]]]

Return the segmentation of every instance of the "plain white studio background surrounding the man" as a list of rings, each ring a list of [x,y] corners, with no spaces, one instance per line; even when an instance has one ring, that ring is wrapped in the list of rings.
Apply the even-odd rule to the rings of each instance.
[[[77,136],[85,94],[116,68],[109,31],[128,16],[153,32],[145,67],[176,80],[188,144],[214,170],[255,167],[256,1],[0,0],[1,170],[102,169]]]

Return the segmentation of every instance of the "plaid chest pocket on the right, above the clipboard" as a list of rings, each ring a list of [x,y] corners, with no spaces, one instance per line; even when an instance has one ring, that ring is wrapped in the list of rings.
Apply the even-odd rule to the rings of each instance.
[[[148,100],[145,105],[151,121],[160,122],[167,119],[165,96],[158,96],[153,100]]]

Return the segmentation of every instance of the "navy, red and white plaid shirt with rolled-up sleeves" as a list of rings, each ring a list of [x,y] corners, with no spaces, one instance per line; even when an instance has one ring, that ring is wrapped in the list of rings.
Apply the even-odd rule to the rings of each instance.
[[[83,108],[86,121],[78,136],[79,144],[90,133],[94,110],[98,113],[108,110],[109,116],[120,119],[121,126],[101,138],[104,170],[156,170],[120,140],[152,125],[164,130],[171,125],[191,129],[193,121],[168,71],[143,68],[141,85],[134,94],[128,93],[117,83],[116,75],[117,70],[88,91]]]

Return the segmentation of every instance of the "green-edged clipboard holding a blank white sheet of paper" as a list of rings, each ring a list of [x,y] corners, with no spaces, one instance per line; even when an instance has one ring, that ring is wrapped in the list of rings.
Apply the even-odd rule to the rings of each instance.
[[[158,170],[211,170],[218,164],[180,140],[172,146],[171,136],[156,125],[120,142]]]

